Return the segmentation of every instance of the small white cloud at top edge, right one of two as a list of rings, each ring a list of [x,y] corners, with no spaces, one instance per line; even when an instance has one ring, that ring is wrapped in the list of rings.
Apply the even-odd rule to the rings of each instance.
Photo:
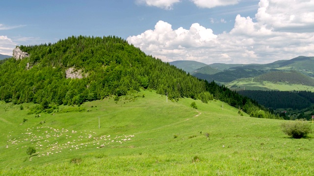
[[[192,0],[194,4],[201,8],[213,8],[217,6],[235,5],[239,0]]]

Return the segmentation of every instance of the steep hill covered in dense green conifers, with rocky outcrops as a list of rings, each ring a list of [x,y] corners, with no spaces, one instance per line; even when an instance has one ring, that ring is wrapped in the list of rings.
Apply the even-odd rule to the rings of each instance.
[[[216,83],[186,74],[182,69],[146,55],[115,37],[72,36],[55,44],[20,46],[29,57],[0,63],[0,99],[41,109],[52,105],[80,105],[107,96],[153,89],[172,100],[182,97],[219,99],[242,107],[251,116],[278,118],[257,102]],[[82,70],[81,79],[67,79],[66,69]]]

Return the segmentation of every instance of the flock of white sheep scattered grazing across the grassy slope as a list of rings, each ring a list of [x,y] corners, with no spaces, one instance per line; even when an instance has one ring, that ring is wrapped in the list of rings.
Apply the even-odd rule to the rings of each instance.
[[[123,144],[127,141],[131,141],[131,138],[134,137],[134,135],[116,135],[115,137],[102,135],[96,137],[96,132],[92,131],[77,132],[66,129],[59,130],[47,126],[27,128],[19,137],[12,135],[13,132],[9,132],[7,135],[7,149],[16,147],[16,150],[21,150],[32,146],[36,149],[37,157],[59,154],[62,153],[63,150],[73,151],[87,147],[100,149],[109,144]],[[29,160],[31,159],[32,158]]]

